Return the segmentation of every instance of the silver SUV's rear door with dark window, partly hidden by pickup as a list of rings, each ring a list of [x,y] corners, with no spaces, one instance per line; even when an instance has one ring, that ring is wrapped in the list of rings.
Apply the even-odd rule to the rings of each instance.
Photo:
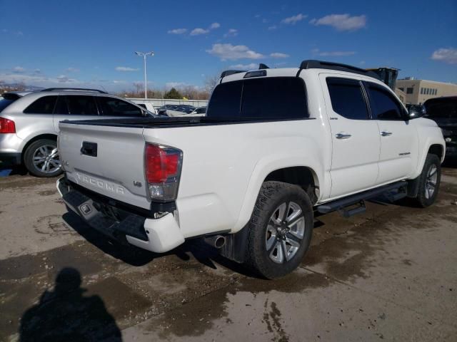
[[[59,95],[54,109],[54,128],[59,132],[62,120],[99,119],[99,109],[91,95]]]

